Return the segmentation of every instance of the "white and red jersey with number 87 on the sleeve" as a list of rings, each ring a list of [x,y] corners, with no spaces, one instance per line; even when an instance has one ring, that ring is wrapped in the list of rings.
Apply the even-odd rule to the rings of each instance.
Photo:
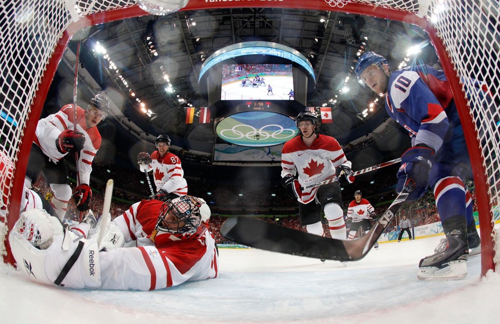
[[[151,153],[151,163],[147,166],[140,165],[141,171],[153,170],[156,192],[160,189],[179,196],[188,194],[188,182],[184,179],[184,170],[180,165],[180,159],[172,152],[167,152],[160,157],[158,151]]]

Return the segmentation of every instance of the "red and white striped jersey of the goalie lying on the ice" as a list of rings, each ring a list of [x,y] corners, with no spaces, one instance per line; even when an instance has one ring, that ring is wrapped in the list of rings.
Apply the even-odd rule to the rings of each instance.
[[[137,247],[99,253],[100,289],[154,290],[218,276],[215,240],[207,223],[192,234],[156,234],[153,243],[150,236],[162,204],[143,200],[113,220],[126,241],[137,239]]]

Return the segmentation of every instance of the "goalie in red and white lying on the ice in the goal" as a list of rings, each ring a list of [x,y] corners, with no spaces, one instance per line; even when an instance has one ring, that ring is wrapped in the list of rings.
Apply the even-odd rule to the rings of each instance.
[[[143,200],[127,213],[121,216],[133,213],[140,231],[150,234],[137,239],[139,230],[123,232],[113,220],[79,239],[44,210],[22,213],[9,236],[18,269],[42,284],[89,289],[154,290],[217,277],[210,208],[203,199]],[[101,247],[97,237],[103,227]],[[121,247],[130,238],[135,246]]]

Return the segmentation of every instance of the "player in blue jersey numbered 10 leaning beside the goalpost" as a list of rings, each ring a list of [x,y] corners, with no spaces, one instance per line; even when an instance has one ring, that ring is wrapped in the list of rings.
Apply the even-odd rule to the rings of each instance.
[[[430,185],[446,244],[420,260],[420,280],[455,280],[467,275],[467,260],[480,253],[472,216],[472,199],[461,177],[469,177],[470,160],[455,101],[443,71],[427,65],[394,72],[386,59],[364,53],[355,68],[362,85],[385,95],[386,111],[403,126],[411,145],[401,156],[397,192],[410,180],[415,188],[407,201],[420,198]]]

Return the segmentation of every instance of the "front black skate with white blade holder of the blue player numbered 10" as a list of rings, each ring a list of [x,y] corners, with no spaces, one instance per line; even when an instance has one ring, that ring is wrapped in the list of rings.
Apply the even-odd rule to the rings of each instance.
[[[446,240],[434,250],[435,254],[420,260],[420,280],[458,280],[467,275],[469,247],[465,217],[452,217],[443,223]]]

